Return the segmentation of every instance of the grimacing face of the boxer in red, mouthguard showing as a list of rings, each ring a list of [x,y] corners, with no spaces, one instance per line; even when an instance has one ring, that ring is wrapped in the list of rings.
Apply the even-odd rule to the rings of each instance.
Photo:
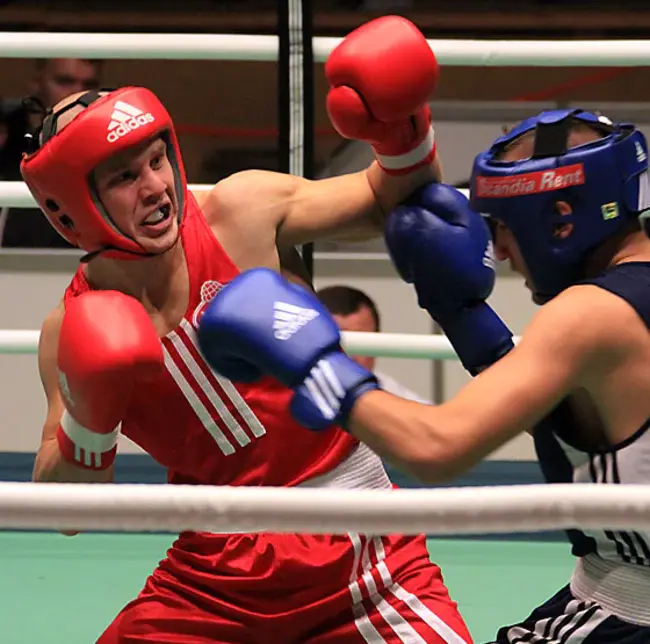
[[[95,186],[115,225],[149,253],[176,242],[178,200],[165,142],[156,138],[111,157],[95,169]]]

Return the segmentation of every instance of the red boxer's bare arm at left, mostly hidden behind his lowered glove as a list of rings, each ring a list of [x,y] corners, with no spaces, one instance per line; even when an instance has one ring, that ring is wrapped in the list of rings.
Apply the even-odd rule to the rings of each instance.
[[[38,345],[38,368],[47,401],[47,415],[43,425],[41,445],[36,454],[33,480],[35,482],[106,483],[113,478],[112,468],[105,471],[76,467],[65,460],[59,451],[56,432],[63,415],[56,366],[59,330],[63,320],[63,304],[54,309],[43,322]]]

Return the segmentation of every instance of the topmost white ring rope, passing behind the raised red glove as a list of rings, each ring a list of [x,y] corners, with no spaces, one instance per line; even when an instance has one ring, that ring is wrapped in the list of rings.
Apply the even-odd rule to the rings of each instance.
[[[324,62],[340,38],[314,38]],[[650,40],[429,40],[445,66],[608,67],[650,64]],[[0,32],[1,58],[274,61],[276,36]]]

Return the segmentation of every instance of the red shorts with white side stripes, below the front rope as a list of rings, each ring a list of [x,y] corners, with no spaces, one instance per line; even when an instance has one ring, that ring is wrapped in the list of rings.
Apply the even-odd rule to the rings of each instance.
[[[470,644],[423,536],[181,535],[97,644]]]

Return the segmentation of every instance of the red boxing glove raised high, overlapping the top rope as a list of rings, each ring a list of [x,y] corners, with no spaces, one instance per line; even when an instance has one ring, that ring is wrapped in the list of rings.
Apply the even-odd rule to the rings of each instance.
[[[438,63],[406,18],[386,16],[350,33],[325,65],[327,111],[346,139],[366,141],[388,173],[405,174],[435,155],[428,101]]]

